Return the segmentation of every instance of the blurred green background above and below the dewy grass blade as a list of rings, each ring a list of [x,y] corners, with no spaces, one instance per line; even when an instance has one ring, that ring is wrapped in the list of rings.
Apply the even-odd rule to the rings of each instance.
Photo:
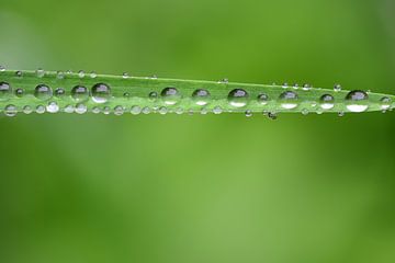
[[[392,0],[0,2],[0,65],[395,93]],[[394,114],[0,118],[0,262],[394,262]]]

